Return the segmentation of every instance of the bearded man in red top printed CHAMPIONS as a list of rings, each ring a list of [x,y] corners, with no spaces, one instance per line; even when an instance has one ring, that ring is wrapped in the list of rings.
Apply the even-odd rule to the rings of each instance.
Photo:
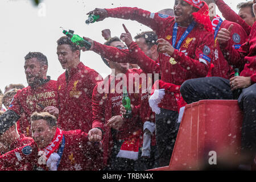
[[[30,115],[34,111],[55,113],[57,106],[56,81],[47,76],[47,57],[40,52],[25,56],[24,69],[28,86],[18,90],[9,109],[0,117],[0,134],[19,120],[19,131],[31,137]],[[1,125],[4,121],[6,126]]]

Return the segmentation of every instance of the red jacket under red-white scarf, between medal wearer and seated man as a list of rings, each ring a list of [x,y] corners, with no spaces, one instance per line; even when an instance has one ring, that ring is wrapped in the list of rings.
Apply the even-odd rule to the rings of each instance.
[[[237,23],[229,22],[228,20],[224,20],[221,24],[221,28],[228,29],[229,26],[233,24],[232,31],[230,32],[230,36],[232,39],[228,42],[228,47],[235,47],[236,49],[240,48],[240,46],[246,42],[247,34],[245,30]],[[225,55],[222,54],[220,45],[218,44],[217,37],[214,42],[214,58],[213,58],[214,68],[211,71],[211,76],[217,76],[229,79],[234,76],[234,69],[231,65],[228,64],[228,61],[225,59]],[[240,68],[240,70],[242,70]]]

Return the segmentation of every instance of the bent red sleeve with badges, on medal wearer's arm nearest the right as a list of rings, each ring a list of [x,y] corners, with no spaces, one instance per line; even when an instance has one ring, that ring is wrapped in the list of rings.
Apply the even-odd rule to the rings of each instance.
[[[196,77],[205,77],[210,68],[210,63],[213,59],[213,46],[214,46],[214,37],[213,34],[207,32],[202,36],[200,44],[196,48],[195,58],[192,59],[189,56],[186,56],[184,52],[180,52],[175,49],[173,55],[175,61],[181,65],[189,72],[192,72]],[[208,51],[205,52],[204,49]]]

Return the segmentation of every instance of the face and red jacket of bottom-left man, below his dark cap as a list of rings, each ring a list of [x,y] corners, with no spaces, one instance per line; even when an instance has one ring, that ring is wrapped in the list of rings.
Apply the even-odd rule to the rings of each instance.
[[[0,156],[0,171],[32,171],[37,162],[38,149],[30,137],[18,134],[16,123],[0,135],[7,152]]]

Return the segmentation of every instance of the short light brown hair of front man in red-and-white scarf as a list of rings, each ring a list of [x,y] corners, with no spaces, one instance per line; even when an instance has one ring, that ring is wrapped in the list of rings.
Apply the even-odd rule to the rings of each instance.
[[[47,112],[42,112],[42,113],[34,112],[31,115],[30,119],[31,121],[44,119],[46,120],[49,127],[52,128],[53,126],[57,126],[57,118],[54,115],[49,114]]]

